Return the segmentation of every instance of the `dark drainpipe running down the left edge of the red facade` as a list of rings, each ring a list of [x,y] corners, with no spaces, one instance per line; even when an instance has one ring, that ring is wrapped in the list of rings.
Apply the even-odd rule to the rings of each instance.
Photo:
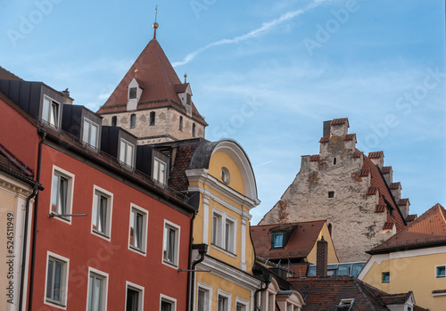
[[[46,132],[41,128],[37,128],[37,134],[41,136],[40,143],[38,143],[38,158],[37,158],[37,183],[40,183],[40,166],[42,164],[42,145],[45,141]],[[38,211],[38,192],[34,204],[33,213],[33,228],[32,228],[32,253],[31,253],[31,271],[29,277],[29,299],[28,311],[32,311],[32,296],[34,291],[34,270],[36,266],[36,240],[37,240],[37,211]]]

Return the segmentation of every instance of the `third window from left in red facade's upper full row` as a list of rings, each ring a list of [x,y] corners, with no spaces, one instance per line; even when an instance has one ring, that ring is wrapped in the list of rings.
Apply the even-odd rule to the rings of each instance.
[[[130,209],[130,250],[145,252],[147,244],[147,211],[132,204]]]

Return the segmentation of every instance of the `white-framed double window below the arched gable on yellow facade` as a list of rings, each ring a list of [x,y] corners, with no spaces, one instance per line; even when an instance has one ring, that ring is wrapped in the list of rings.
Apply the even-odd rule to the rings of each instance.
[[[212,244],[235,253],[236,219],[218,209],[212,213]]]

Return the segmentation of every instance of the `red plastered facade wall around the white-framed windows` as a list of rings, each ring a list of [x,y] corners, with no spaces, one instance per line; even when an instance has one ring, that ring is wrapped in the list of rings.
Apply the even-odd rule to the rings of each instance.
[[[41,183],[45,191],[40,192],[39,198],[33,309],[53,309],[44,304],[47,250],[70,258],[69,310],[87,307],[88,266],[109,274],[109,309],[124,309],[126,281],[145,287],[145,309],[160,309],[161,293],[177,299],[178,310],[186,309],[187,273],[178,273],[177,268],[161,263],[162,237],[164,219],[181,227],[178,267],[187,269],[191,215],[186,216],[48,145],[44,144],[42,156]],[[72,213],[87,214],[72,217],[70,225],[48,217],[53,165],[75,175]],[[111,241],[91,233],[94,184],[113,193]],[[148,210],[146,257],[128,250],[130,203]]]

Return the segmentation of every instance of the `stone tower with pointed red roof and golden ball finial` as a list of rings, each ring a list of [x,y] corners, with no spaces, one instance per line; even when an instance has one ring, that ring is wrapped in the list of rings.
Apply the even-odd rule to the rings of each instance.
[[[208,124],[192,101],[186,75],[182,83],[156,40],[157,28],[153,23],[153,39],[97,112],[104,125],[128,130],[138,144],[204,137]]]

